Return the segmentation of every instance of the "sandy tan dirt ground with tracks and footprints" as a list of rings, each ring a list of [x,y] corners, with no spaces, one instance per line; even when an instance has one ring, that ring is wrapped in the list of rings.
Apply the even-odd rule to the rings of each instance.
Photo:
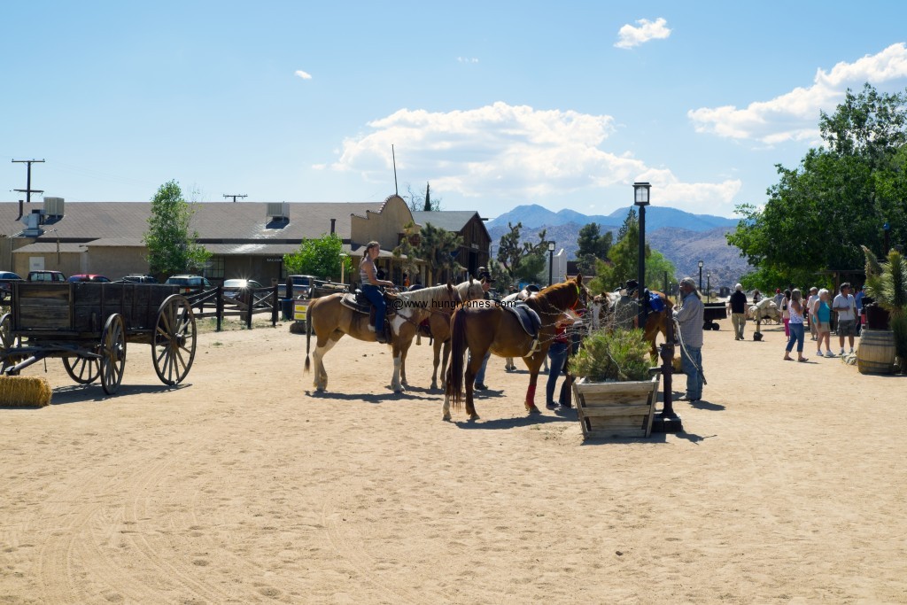
[[[525,415],[496,357],[482,419],[443,422],[427,341],[404,395],[349,338],[313,395],[288,324],[201,334],[177,388],[143,345],[112,397],[32,366],[54,401],[0,408],[0,603],[907,602],[907,378],[720,323],[705,399],[650,439]]]

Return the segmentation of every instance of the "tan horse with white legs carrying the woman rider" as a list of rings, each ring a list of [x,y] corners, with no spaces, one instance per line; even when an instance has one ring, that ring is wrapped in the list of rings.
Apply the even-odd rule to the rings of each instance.
[[[340,299],[343,296],[343,294],[332,294],[316,298],[308,306],[306,313],[305,372],[307,373],[309,370],[308,351],[314,331],[317,343],[312,357],[315,359],[315,388],[318,391],[327,389],[324,356],[340,338],[348,334],[358,340],[375,341],[375,332],[368,329],[368,315],[342,305]],[[395,295],[393,303],[388,305],[396,310],[394,316],[388,317],[393,333],[389,344],[394,353],[394,376],[391,379],[391,388],[395,393],[401,393],[404,390],[405,380],[403,382],[400,380],[400,369],[403,366],[406,351],[413,344],[419,324],[426,317],[434,314],[448,317],[446,313],[449,313],[449,309],[460,304],[460,294],[450,283],[413,292],[400,292]]]

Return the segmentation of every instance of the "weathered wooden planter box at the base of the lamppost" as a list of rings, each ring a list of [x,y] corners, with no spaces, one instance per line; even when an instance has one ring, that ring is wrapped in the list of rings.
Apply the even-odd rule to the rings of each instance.
[[[580,415],[582,435],[598,437],[648,437],[658,400],[660,374],[651,380],[573,383],[573,397]]]

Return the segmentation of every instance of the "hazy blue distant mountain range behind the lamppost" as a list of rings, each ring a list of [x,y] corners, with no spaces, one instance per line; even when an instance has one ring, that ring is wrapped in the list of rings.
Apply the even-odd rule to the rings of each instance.
[[[537,241],[541,229],[547,229],[547,239],[553,239],[568,259],[575,259],[579,249],[577,240],[580,229],[591,222],[600,226],[602,233],[613,231],[615,239],[620,225],[627,217],[629,206],[609,215],[585,215],[576,210],[552,212],[538,204],[517,206],[494,220],[485,223],[492,243],[497,244],[507,232],[507,223],[522,222],[522,239]],[[684,210],[650,206],[646,209],[646,239],[678,269],[678,277],[691,276],[698,280],[698,262],[703,261],[702,285],[707,281],[715,290],[722,286],[733,287],[739,279],[752,270],[740,256],[736,246],[727,244],[725,234],[736,229],[736,219],[708,214],[692,214]],[[711,279],[707,274],[711,273]],[[661,286],[661,284],[653,284]]]

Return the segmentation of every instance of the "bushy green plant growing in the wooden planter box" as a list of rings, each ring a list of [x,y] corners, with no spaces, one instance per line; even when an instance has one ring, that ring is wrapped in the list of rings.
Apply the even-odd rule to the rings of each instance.
[[[582,341],[570,371],[590,382],[648,380],[650,366],[649,342],[642,330],[600,330]]]

